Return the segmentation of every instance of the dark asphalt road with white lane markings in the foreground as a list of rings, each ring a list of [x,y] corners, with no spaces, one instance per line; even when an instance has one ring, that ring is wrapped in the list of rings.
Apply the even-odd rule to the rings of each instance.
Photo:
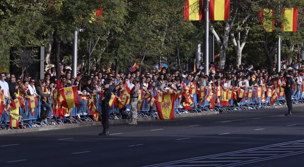
[[[0,135],[0,166],[303,166],[295,107]]]

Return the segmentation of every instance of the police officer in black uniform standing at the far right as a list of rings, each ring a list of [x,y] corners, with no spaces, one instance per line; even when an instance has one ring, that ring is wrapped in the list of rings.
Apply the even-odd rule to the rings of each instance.
[[[283,86],[284,91],[285,91],[285,96],[286,96],[286,104],[288,107],[288,114],[285,114],[285,116],[289,116],[292,115],[292,102],[291,102],[291,89],[293,86],[293,80],[290,77],[290,73],[285,72],[284,73],[284,77],[286,79],[286,86]]]

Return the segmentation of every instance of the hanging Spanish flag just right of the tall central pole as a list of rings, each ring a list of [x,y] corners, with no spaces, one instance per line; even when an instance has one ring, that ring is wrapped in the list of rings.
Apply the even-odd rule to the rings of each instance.
[[[229,19],[230,0],[210,0],[210,20]]]

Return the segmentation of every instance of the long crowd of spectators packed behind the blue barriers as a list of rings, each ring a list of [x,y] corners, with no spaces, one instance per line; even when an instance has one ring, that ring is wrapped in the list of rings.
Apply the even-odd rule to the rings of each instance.
[[[293,80],[298,84],[302,84],[304,80],[304,61],[294,61],[291,66],[282,66],[279,73],[269,73],[266,69],[254,67],[252,64],[243,62],[239,66],[232,63],[225,66],[224,69],[219,69],[219,63],[210,64],[210,73],[204,73],[204,63],[196,69],[196,72],[187,71],[186,69],[174,70],[162,68],[161,71],[150,70],[135,70],[134,72],[108,72],[105,69],[94,68],[92,73],[87,75],[82,71],[81,65],[77,68],[77,77],[72,77],[71,63],[60,62],[60,80],[64,84],[62,87],[77,86],[79,93],[95,94],[102,90],[105,80],[109,80],[110,85],[114,87],[113,94],[120,94],[126,87],[132,89],[134,78],[138,78],[139,87],[147,93],[152,91],[167,91],[183,90],[183,86],[198,87],[222,87],[222,89],[238,89],[260,87],[261,84],[267,84],[268,87],[273,87],[273,82],[279,80],[279,83],[284,83],[283,73],[288,71]],[[83,75],[82,75],[83,74]],[[5,98],[11,102],[16,97],[25,98],[28,96],[37,96],[42,100],[43,107],[47,112],[51,109],[49,97],[53,97],[55,88],[57,87],[57,75],[54,65],[45,65],[44,79],[35,80],[31,76],[16,76],[12,73],[0,74],[0,87],[3,90]],[[295,92],[294,92],[295,94]],[[182,99],[179,99],[181,104]],[[84,105],[84,104],[80,104]],[[179,105],[181,108],[182,106]],[[77,119],[80,120],[80,112],[77,113]],[[66,114],[66,117],[69,115]],[[48,120],[45,120],[48,121]],[[31,126],[39,126],[29,121]],[[1,127],[5,128],[5,127]],[[1,129],[0,128],[0,129]]]

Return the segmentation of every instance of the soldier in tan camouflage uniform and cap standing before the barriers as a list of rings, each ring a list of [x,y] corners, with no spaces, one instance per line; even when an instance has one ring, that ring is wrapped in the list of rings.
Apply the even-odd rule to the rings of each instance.
[[[137,85],[139,79],[134,78],[133,84],[134,87],[131,90],[130,98],[131,98],[131,122],[128,123],[130,125],[136,125],[137,124],[137,102],[138,102],[138,96],[139,94],[139,87]]]

